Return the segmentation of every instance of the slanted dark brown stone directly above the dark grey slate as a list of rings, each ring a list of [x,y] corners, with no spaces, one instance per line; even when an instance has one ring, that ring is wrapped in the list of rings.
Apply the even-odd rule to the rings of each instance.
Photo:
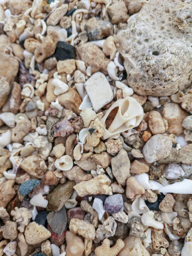
[[[47,195],[48,210],[59,211],[73,193],[74,181],[67,181],[67,183],[59,184],[55,189]]]

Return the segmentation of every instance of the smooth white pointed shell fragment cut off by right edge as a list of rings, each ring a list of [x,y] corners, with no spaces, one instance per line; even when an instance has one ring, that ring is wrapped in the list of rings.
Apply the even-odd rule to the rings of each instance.
[[[181,182],[164,186],[159,192],[177,193],[177,194],[192,194],[192,180],[184,179]]]

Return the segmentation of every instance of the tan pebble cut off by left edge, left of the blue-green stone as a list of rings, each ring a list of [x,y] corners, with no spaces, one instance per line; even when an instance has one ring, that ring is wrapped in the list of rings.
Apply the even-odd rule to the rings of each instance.
[[[13,188],[15,181],[14,180],[6,180],[0,186],[0,207],[6,207],[9,201],[15,195],[15,189]]]

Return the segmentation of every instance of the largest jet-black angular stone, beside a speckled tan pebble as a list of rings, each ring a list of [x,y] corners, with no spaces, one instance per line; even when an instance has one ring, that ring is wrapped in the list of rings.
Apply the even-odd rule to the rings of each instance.
[[[55,57],[57,61],[74,59],[76,58],[76,49],[70,44],[58,41],[55,53],[52,55],[52,58],[53,57]]]

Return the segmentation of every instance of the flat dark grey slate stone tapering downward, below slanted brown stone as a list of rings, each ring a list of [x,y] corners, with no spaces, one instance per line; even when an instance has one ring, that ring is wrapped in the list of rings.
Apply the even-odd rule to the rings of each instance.
[[[58,212],[49,212],[47,221],[52,228],[52,231],[61,236],[67,225],[67,214],[65,207],[62,207]]]

